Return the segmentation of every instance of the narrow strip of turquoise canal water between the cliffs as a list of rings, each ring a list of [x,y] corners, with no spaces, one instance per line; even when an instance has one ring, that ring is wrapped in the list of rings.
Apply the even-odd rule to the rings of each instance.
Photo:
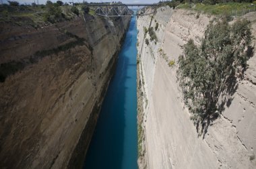
[[[136,17],[119,53],[84,168],[137,168]]]

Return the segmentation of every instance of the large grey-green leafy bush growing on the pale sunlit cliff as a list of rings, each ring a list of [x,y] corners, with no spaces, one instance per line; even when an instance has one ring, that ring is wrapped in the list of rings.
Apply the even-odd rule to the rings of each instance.
[[[201,46],[189,40],[179,56],[179,84],[199,134],[207,131],[210,121],[230,102],[228,97],[220,98],[232,95],[236,78],[243,78],[247,60],[252,56],[250,26],[247,20],[233,25],[225,20],[211,21]]]

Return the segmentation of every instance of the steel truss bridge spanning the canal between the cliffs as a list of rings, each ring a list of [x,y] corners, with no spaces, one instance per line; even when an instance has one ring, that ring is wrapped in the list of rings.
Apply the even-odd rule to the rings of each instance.
[[[130,4],[88,4],[88,7],[94,10],[96,15],[104,17],[127,17],[133,15],[129,7],[147,7],[140,10],[137,15],[149,15],[154,13],[158,4],[150,3],[130,3]]]

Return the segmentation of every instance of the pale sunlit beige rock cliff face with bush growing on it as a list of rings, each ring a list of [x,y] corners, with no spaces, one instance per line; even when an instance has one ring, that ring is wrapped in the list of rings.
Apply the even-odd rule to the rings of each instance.
[[[256,13],[243,16],[252,22],[256,37]],[[255,58],[250,58],[245,78],[230,97],[220,118],[212,122],[205,137],[198,137],[177,82],[177,60],[192,38],[197,44],[210,16],[162,7],[139,17],[138,122],[139,168],[256,168]],[[143,27],[155,27],[158,42],[150,42]],[[253,41],[255,45],[255,40]],[[175,60],[174,66],[168,66]]]

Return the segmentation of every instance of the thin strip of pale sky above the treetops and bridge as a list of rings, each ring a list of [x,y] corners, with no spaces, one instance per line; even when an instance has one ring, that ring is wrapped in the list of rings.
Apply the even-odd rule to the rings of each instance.
[[[13,1],[13,0],[9,0],[9,1]],[[42,3],[46,3],[47,0],[15,0],[15,1],[18,1],[19,3],[21,4],[31,4],[33,3],[34,1],[37,3],[37,1],[39,1],[40,4]],[[57,0],[51,0],[52,2],[56,2]],[[70,1],[73,1],[74,3],[76,2],[80,2],[82,3],[83,0],[62,0],[63,2],[70,2]],[[160,0],[87,0],[89,3],[90,2],[106,2],[106,1],[121,1],[122,3],[157,3],[159,2]],[[6,3],[7,0],[0,0],[0,3]]]

